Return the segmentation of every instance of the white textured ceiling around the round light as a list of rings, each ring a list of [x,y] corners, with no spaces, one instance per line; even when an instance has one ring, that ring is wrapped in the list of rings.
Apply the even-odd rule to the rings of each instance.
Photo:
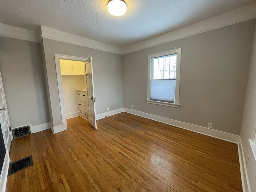
[[[0,0],[0,23],[47,26],[118,47],[146,40],[256,0],[125,0],[127,12],[107,12],[108,0]]]

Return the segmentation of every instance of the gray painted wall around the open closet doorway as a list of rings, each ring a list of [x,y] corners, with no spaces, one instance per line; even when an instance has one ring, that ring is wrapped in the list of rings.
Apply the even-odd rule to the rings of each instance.
[[[123,107],[122,56],[88,47],[43,38],[43,49],[49,85],[53,126],[62,124],[54,54],[92,56],[96,114]]]

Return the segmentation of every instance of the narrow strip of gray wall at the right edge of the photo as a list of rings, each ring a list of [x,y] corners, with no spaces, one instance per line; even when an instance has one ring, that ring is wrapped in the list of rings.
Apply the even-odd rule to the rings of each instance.
[[[248,139],[253,139],[256,125],[256,27],[254,32],[253,48],[249,68],[248,85],[246,90],[243,121],[241,127],[241,141],[245,158],[249,153],[247,172],[251,191],[256,191],[256,160],[253,156]]]

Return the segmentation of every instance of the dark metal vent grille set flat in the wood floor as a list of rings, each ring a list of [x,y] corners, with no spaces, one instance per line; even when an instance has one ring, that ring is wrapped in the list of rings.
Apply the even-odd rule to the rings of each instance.
[[[24,159],[21,159],[19,161],[10,163],[9,170],[8,170],[8,176],[13,173],[16,173],[22,169],[28,168],[32,165],[33,165],[32,155],[30,155],[29,157],[26,157]]]

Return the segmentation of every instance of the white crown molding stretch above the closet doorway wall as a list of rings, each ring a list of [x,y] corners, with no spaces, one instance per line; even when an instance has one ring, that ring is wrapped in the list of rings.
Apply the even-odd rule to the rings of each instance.
[[[41,37],[122,55],[122,48],[41,26]]]

